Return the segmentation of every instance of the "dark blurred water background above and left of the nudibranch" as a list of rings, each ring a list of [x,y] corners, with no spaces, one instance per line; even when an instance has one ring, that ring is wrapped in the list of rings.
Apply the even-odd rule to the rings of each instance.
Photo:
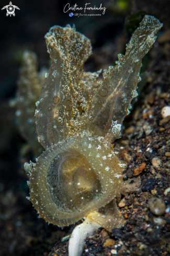
[[[125,52],[126,43],[132,32],[138,27],[145,14],[154,15],[164,23],[160,35],[166,32],[164,41],[170,49],[170,1],[143,0],[92,0],[90,6],[106,7],[106,12],[86,10],[87,14],[101,16],[72,16],[72,12],[63,12],[70,3],[84,7],[87,1],[35,1],[12,0],[15,17],[6,16],[6,9],[0,12],[0,255],[47,255],[51,247],[70,233],[74,225],[64,228],[48,225],[37,218],[37,212],[31,202],[27,186],[28,177],[23,164],[35,161],[35,154],[22,137],[16,121],[16,109],[9,102],[17,92],[18,70],[25,50],[38,56],[39,69],[49,68],[44,35],[54,25],[75,24],[76,30],[88,37],[93,46],[93,54],[85,63],[85,71],[108,69],[115,65],[117,54]],[[0,8],[9,1],[0,1]],[[161,43],[161,41],[160,41]],[[154,47],[158,47],[156,42]],[[154,48],[153,47],[153,48]],[[150,55],[143,61],[143,71],[148,70]]]

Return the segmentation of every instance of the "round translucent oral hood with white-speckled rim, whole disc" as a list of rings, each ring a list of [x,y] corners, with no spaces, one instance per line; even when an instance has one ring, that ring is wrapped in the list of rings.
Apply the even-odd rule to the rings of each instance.
[[[110,202],[120,191],[121,174],[110,148],[77,134],[38,158],[30,177],[31,202],[47,221],[70,225]]]

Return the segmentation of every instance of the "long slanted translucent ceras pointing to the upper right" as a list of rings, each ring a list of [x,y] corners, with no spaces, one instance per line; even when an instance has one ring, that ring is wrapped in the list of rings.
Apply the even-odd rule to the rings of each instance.
[[[83,117],[83,129],[97,136],[106,136],[105,140],[109,141],[120,138],[120,125],[130,113],[128,108],[132,99],[138,95],[136,89],[141,80],[142,59],[151,49],[161,27],[159,20],[145,15],[127,44],[126,54],[118,54],[118,64],[104,70],[104,81],[99,82],[91,100],[92,107]]]

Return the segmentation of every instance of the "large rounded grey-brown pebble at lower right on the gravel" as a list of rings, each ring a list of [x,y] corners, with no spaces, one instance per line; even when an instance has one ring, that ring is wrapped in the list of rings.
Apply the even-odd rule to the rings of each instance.
[[[165,213],[165,202],[161,198],[151,197],[148,201],[151,213],[161,216]]]

